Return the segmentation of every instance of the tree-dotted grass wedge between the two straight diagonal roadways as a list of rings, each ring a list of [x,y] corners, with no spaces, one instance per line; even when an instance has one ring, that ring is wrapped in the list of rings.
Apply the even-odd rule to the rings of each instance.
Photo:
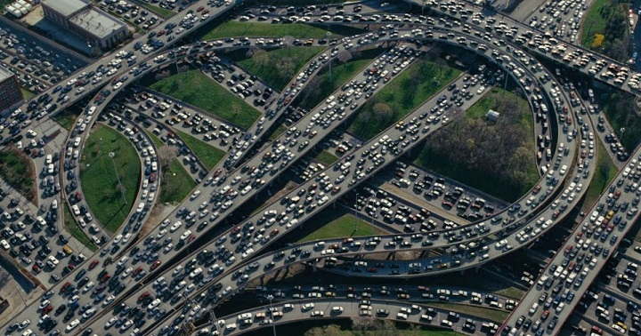
[[[416,61],[363,105],[348,130],[371,139],[450,84],[460,72],[430,60]],[[385,113],[377,112],[379,103],[386,105]]]

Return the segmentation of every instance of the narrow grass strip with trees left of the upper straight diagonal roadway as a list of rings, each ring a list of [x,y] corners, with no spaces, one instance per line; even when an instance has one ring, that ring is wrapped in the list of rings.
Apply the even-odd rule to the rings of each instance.
[[[343,84],[365,68],[371,60],[374,60],[380,53],[381,49],[368,49],[360,52],[357,58],[348,60],[345,64],[332,67],[331,76],[329,70],[321,75],[321,80],[316,87],[310,88],[314,94],[310,94],[300,102],[302,108],[312,109],[321,101],[325,100],[332,92],[335,92]],[[302,92],[301,94],[304,94]]]

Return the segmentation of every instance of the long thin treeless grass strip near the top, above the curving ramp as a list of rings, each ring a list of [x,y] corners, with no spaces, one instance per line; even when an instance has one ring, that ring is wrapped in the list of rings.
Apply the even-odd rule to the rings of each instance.
[[[214,30],[202,37],[202,40],[213,40],[223,37],[252,36],[252,37],[283,37],[292,36],[295,38],[327,38],[328,30],[316,28],[303,23],[289,25],[261,23],[261,22],[239,22],[225,21]],[[332,33],[332,38],[342,36]]]

